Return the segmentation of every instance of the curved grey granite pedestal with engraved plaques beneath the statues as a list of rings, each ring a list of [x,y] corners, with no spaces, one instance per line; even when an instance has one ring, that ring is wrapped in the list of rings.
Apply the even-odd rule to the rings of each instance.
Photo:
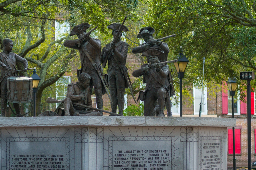
[[[1,170],[226,170],[227,127],[204,117],[0,119]]]

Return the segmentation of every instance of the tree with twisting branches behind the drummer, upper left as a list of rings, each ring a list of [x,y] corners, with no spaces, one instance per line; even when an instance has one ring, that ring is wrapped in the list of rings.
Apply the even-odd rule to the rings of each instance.
[[[111,37],[106,25],[119,21],[125,15],[132,17],[136,6],[137,0],[88,0],[83,4],[78,0],[6,0],[0,3],[0,40],[11,38],[15,43],[14,52],[26,58],[29,67],[39,68],[41,81],[36,94],[37,114],[41,113],[45,89],[69,71],[70,61],[78,56],[77,51],[62,45],[69,33],[54,40],[55,21],[65,21],[70,27],[81,22],[98,25],[97,36],[92,36],[101,37],[104,41]]]

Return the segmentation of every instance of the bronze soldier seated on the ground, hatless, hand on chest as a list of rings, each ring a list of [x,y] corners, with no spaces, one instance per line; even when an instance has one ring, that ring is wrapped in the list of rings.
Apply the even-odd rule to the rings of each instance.
[[[92,107],[92,100],[90,94],[91,76],[87,73],[81,73],[78,76],[77,83],[68,84],[67,97],[62,101],[64,106],[65,116],[99,116],[101,113],[92,112],[87,109],[83,109],[76,105],[73,106],[72,102],[79,103]]]

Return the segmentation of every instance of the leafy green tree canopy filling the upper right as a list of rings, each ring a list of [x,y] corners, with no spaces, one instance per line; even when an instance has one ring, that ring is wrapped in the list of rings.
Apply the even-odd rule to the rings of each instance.
[[[199,77],[202,76],[203,57],[206,57],[204,78],[208,85],[221,84],[228,77],[236,77],[239,81],[240,71],[256,70],[254,1],[147,0],[145,3],[149,5],[145,26],[154,27],[159,38],[176,34],[167,41],[174,54],[177,55],[179,46],[183,46],[189,59],[183,81],[185,86],[202,83]],[[176,58],[173,53],[170,59]],[[174,78],[177,80],[177,76]]]

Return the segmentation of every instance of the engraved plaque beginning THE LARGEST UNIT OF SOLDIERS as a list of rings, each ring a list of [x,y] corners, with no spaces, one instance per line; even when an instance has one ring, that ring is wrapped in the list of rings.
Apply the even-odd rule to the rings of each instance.
[[[174,137],[110,138],[110,169],[170,170],[175,165]]]

